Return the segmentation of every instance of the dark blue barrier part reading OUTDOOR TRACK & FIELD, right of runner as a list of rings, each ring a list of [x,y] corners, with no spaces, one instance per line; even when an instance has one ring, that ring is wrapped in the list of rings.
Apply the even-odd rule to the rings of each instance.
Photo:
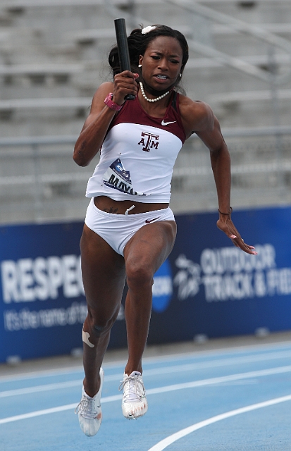
[[[173,295],[163,312],[153,311],[149,343],[291,329],[290,208],[233,214],[257,256],[233,246],[216,228],[217,214],[176,219]]]

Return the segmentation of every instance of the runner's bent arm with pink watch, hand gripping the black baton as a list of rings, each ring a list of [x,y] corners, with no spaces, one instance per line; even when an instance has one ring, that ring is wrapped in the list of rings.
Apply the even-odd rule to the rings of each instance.
[[[136,74],[126,70],[115,76],[114,83],[103,83],[95,92],[89,116],[75,144],[73,159],[79,166],[87,166],[99,152],[116,111],[104,104],[104,99],[113,92],[113,101],[123,105],[127,94],[137,94]]]

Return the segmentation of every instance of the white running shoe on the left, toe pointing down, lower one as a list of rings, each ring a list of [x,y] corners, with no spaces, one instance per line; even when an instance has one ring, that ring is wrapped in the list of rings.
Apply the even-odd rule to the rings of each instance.
[[[85,392],[84,388],[82,390],[82,398],[75,408],[75,414],[78,414],[80,428],[83,433],[88,437],[92,437],[97,434],[102,421],[101,412],[101,390],[104,381],[104,371],[100,369],[100,388],[99,392],[94,396],[90,397]]]

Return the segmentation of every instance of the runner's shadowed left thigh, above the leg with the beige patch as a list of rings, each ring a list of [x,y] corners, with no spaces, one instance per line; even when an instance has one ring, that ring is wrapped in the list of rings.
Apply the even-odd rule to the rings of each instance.
[[[88,307],[115,309],[125,283],[125,263],[97,233],[86,225],[80,242],[82,279]]]

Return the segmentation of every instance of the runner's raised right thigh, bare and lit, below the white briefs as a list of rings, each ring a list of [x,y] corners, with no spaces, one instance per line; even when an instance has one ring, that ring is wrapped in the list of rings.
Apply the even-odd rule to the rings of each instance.
[[[154,275],[171,253],[176,231],[175,221],[157,221],[140,228],[124,249],[127,272],[139,266],[149,268]]]

